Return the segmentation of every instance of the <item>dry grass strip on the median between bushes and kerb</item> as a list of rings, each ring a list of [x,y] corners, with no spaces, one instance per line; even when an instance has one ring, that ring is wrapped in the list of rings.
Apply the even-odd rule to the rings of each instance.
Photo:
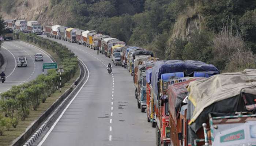
[[[35,45],[35,44],[33,44]],[[44,49],[47,51],[56,62],[60,62],[60,58],[57,56],[56,53],[53,53],[52,51],[49,51],[47,49]],[[0,136],[0,146],[9,146],[11,145],[12,141],[14,141],[16,138],[18,138],[23,132],[25,132],[26,128],[30,126],[31,123],[33,123],[35,120],[39,118],[39,116],[42,115],[43,112],[45,112],[59,97],[66,91],[68,88],[71,87],[71,85],[75,82],[76,78],[78,78],[80,75],[80,68],[75,73],[75,76],[71,78],[70,81],[64,84],[64,86],[61,88],[63,92],[56,91],[54,92],[50,97],[48,97],[45,101],[45,103],[41,103],[37,109],[37,111],[34,111],[31,108],[29,118],[27,118],[24,121],[19,120],[19,123],[16,128],[10,128],[9,131],[4,131],[4,134]]]

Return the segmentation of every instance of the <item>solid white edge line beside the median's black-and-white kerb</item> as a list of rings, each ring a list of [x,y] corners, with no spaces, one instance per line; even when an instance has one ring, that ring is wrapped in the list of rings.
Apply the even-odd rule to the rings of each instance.
[[[79,58],[78,58],[79,59]],[[46,138],[50,135],[50,132],[52,132],[53,128],[56,126],[56,124],[59,122],[59,120],[61,119],[61,117],[64,115],[65,111],[68,109],[68,107],[70,106],[70,104],[75,100],[76,96],[78,96],[78,94],[80,93],[80,91],[82,90],[82,88],[84,87],[84,85],[87,83],[87,81],[89,80],[89,76],[90,76],[90,72],[89,69],[87,68],[87,66],[84,64],[84,62],[80,59],[80,61],[83,63],[83,65],[85,66],[87,72],[88,72],[88,76],[86,81],[84,82],[84,84],[82,85],[82,87],[79,89],[79,91],[76,93],[76,95],[73,97],[73,99],[71,101],[69,101],[67,107],[65,107],[65,109],[61,112],[60,116],[58,117],[58,119],[54,122],[53,126],[50,128],[50,130],[46,133],[45,137],[42,139],[42,141],[38,144],[38,146],[42,146],[42,144],[45,142]]]

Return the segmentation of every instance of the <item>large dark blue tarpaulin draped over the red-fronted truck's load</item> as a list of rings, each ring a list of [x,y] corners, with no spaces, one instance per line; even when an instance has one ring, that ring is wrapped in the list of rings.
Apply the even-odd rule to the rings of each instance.
[[[158,80],[164,73],[184,72],[185,76],[189,76],[194,72],[204,72],[206,74],[219,74],[219,70],[211,64],[202,61],[193,60],[162,60],[157,61],[152,70],[151,84],[153,86],[154,97],[158,97]]]

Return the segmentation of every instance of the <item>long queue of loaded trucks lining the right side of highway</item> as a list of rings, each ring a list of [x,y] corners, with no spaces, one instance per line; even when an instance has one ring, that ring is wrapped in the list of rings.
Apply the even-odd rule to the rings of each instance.
[[[256,69],[222,73],[192,60],[159,60],[152,51],[95,30],[46,26],[47,37],[109,57],[131,74],[138,108],[156,146],[255,146]]]

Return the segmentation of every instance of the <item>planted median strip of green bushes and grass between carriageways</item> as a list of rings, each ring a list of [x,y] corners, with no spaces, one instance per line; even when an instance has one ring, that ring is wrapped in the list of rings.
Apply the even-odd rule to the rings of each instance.
[[[70,88],[79,76],[79,67],[75,54],[67,47],[31,34],[19,34],[23,41],[34,43],[56,57],[65,72],[61,74],[63,90]],[[0,145],[10,145],[26,128],[38,119],[61,95],[56,91],[59,75],[55,69],[35,80],[13,86],[0,94]]]

